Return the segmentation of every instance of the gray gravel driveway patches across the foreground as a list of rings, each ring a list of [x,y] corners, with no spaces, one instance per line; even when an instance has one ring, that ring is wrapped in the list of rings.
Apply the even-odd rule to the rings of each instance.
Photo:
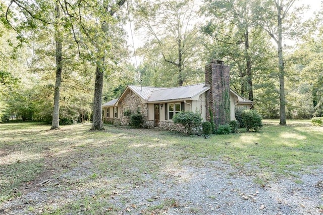
[[[83,170],[75,168],[53,181],[81,180],[91,175],[86,168]],[[117,214],[323,214],[322,176],[323,168],[319,167],[311,168],[310,173],[298,173],[297,178],[258,184],[255,176],[239,174],[228,164],[206,162],[202,168],[182,165],[165,167],[158,175],[142,174],[143,182],[135,186],[120,182],[118,192],[108,198],[120,208]],[[42,213],[45,207],[59,207],[62,200],[78,200],[81,191],[92,196],[101,188],[86,189],[41,188],[2,203],[0,213]]]

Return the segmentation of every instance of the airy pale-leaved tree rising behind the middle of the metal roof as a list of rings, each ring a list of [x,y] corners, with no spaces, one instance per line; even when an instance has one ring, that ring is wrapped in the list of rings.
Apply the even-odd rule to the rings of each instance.
[[[202,41],[198,27],[193,26],[197,20],[194,0],[148,1],[138,6],[135,18],[136,29],[147,35],[148,41],[141,49],[145,58],[163,59],[169,68],[166,69],[169,73],[163,75],[172,80],[176,75],[178,86],[189,81],[191,75],[195,76],[191,68],[196,71],[200,67],[197,56]]]

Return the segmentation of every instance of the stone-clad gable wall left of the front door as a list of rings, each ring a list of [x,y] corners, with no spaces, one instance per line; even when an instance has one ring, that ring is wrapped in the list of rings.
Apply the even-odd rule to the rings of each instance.
[[[145,117],[145,121],[148,119],[148,104],[142,102],[141,98],[133,91],[129,90],[124,99],[119,103],[120,106],[120,124],[129,125],[130,118],[124,116],[124,108],[127,108],[132,114],[137,114],[138,106],[141,107],[141,114]]]

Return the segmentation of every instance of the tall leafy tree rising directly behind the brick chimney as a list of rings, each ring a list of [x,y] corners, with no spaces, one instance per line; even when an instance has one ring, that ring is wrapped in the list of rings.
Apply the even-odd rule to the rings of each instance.
[[[241,90],[244,95],[247,91],[248,97],[253,101],[253,86],[252,86],[252,64],[254,62],[252,56],[252,41],[250,34],[253,37],[262,36],[259,29],[254,26],[252,4],[254,1],[248,0],[219,0],[219,1],[204,1],[202,11],[205,15],[211,17],[209,23],[203,28],[204,33],[211,36],[223,47],[224,56],[234,61],[240,61],[242,58],[244,66],[239,65]],[[243,50],[241,50],[243,45]]]

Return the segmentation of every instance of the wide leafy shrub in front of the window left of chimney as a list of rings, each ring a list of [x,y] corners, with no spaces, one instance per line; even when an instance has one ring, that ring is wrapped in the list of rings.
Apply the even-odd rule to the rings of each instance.
[[[202,118],[199,113],[180,112],[173,117],[173,122],[182,124],[187,134],[192,134],[194,129],[199,129]]]

